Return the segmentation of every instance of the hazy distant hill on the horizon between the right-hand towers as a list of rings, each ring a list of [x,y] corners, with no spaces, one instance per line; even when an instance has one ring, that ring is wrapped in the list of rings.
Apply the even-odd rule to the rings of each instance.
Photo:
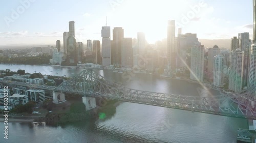
[[[198,39],[205,48],[212,48],[214,45],[219,46],[219,48],[231,49],[231,39]]]

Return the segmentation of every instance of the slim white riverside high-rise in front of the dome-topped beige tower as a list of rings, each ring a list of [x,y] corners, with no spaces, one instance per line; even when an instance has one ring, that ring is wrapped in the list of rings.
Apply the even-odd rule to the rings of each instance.
[[[216,55],[214,56],[214,79],[213,79],[213,84],[216,87],[222,87],[224,84],[224,73],[222,72],[223,70],[223,61],[224,61],[224,56],[223,55]]]

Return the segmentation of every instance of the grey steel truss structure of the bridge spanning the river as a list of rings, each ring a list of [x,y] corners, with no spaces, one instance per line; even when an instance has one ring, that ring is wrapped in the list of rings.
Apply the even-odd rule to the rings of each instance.
[[[240,93],[205,97],[165,94],[125,88],[119,83],[106,80],[92,69],[85,69],[72,79],[62,82],[55,91],[193,112],[256,119],[256,112],[253,107],[255,105],[255,88]]]

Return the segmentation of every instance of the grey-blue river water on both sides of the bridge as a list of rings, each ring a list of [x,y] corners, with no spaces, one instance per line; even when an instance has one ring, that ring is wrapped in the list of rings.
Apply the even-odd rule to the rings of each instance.
[[[82,69],[58,66],[0,65],[0,70],[40,72],[72,77]],[[200,84],[166,79],[151,74],[121,74],[95,70],[106,79],[120,81],[125,87],[161,93],[200,96]],[[209,96],[218,91],[208,90]],[[0,130],[4,130],[0,123]],[[105,121],[70,123],[51,127],[32,123],[9,123],[8,140],[0,142],[236,142],[238,128],[248,128],[246,119],[210,115],[179,109],[121,103]],[[4,131],[2,131],[4,132]]]

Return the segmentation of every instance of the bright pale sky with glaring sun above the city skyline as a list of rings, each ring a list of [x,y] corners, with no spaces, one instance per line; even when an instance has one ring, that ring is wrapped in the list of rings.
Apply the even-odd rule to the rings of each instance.
[[[199,39],[252,37],[251,0],[12,0],[0,6],[0,45],[62,45],[69,21],[75,21],[77,42],[101,41],[106,17],[111,35],[113,27],[123,27],[124,37],[144,32],[151,44],[167,37],[168,20]]]

